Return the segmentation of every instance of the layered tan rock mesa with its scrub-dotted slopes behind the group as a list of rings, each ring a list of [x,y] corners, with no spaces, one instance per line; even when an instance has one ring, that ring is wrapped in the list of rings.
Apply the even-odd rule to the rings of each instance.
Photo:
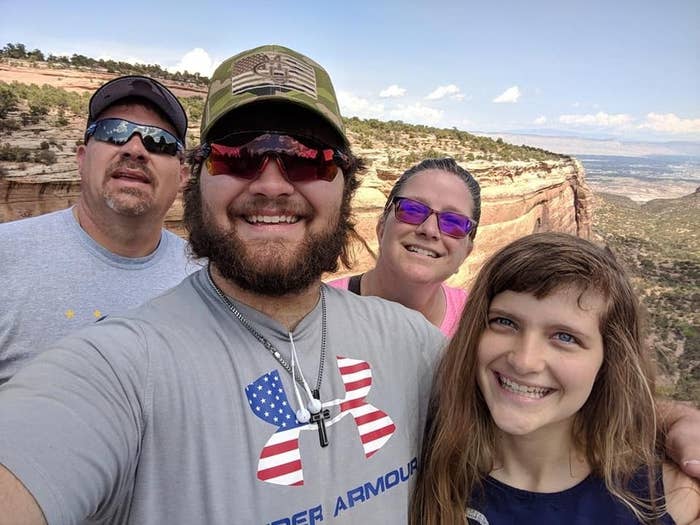
[[[50,83],[72,91],[92,91],[111,76],[114,75],[0,64],[0,80],[5,82]],[[204,96],[201,87],[166,84],[179,96]],[[15,111],[17,115],[26,111],[23,104]],[[36,149],[41,142],[47,142],[55,162],[0,162],[0,222],[66,208],[78,198],[80,181],[75,151],[85,129],[85,116],[69,115],[66,124],[57,126],[53,111],[34,125],[3,133],[2,142],[12,147]],[[195,136],[197,120],[191,119]],[[523,235],[550,230],[584,238],[591,235],[591,192],[583,167],[573,158],[527,148],[513,150],[503,142],[456,130],[401,123],[350,119],[348,136],[353,151],[366,159],[368,169],[353,201],[362,239],[355,246],[357,262],[352,269],[341,269],[338,275],[358,273],[373,265],[370,250],[377,250],[375,227],[386,196],[406,168],[426,157],[457,159],[482,187],[482,216],[474,250],[450,279],[454,286],[468,286],[484,259]],[[166,216],[166,226],[184,235],[180,197]]]

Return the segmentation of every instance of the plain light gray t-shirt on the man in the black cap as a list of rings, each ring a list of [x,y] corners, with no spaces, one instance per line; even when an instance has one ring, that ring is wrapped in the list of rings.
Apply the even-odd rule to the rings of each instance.
[[[66,209],[0,225],[0,384],[64,335],[138,306],[198,266],[163,230],[146,257],[103,248]]]

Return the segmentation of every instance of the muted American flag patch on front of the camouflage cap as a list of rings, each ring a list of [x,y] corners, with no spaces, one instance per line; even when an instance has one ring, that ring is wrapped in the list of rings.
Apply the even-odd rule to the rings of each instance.
[[[260,88],[296,90],[318,98],[313,67],[282,53],[256,53],[237,60],[231,73],[231,93],[255,92]]]

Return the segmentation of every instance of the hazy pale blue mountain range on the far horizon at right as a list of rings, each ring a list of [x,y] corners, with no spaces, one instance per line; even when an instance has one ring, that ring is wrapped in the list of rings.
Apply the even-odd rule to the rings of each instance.
[[[520,132],[476,132],[490,138],[501,138],[516,145],[533,146],[564,155],[615,155],[620,157],[648,157],[672,155],[700,157],[700,142],[636,142],[618,138],[592,139],[575,134],[551,135],[555,130],[544,130],[545,134]]]

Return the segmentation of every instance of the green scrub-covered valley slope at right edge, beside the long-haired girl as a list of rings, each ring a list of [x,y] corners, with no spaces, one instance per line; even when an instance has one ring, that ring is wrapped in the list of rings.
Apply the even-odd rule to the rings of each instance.
[[[594,231],[642,299],[659,390],[700,406],[700,193],[645,204],[597,194]]]

